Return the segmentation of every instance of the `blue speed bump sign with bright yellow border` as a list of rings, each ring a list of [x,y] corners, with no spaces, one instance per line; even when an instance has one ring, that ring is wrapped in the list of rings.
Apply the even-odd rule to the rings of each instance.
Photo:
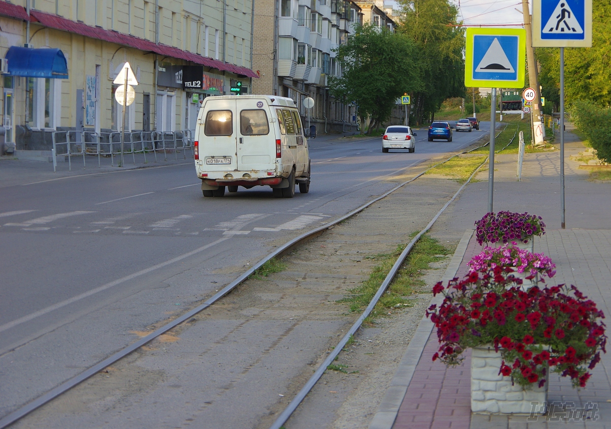
[[[525,56],[524,29],[467,28],[464,85],[523,88]]]

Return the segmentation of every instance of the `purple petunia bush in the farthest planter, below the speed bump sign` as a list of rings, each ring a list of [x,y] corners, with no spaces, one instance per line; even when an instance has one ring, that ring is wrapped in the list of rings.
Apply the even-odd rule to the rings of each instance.
[[[520,240],[528,243],[531,236],[545,234],[545,223],[541,216],[528,213],[492,212],[475,222],[475,237],[477,242],[508,243],[510,240]]]

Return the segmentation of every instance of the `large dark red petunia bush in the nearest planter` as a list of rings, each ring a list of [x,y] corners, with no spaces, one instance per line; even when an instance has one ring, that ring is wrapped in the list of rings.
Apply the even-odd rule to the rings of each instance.
[[[544,386],[548,372],[585,387],[588,369],[601,360],[601,351],[606,353],[604,314],[575,286],[534,286],[524,292],[511,272],[497,265],[455,278],[447,287],[434,286],[433,294],[445,298],[426,312],[441,343],[433,360],[455,365],[466,348],[493,345],[503,358],[499,373],[524,388]]]

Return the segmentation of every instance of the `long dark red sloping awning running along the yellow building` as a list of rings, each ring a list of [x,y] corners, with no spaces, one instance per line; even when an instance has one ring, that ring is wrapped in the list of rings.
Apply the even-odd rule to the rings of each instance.
[[[117,45],[136,48],[141,51],[155,52],[155,54],[158,55],[192,61],[196,64],[202,64],[206,67],[216,68],[221,71],[230,71],[231,73],[241,74],[248,78],[258,78],[257,73],[255,73],[249,68],[238,67],[236,65],[224,63],[219,60],[202,57],[200,55],[183,51],[182,49],[174,48],[172,46],[162,45],[161,43],[159,45],[156,45],[152,41],[144,40],[139,37],[130,36],[128,34],[123,34],[112,30],[104,30],[100,27],[90,27],[83,23],[77,23],[75,21],[62,18],[61,16],[53,15],[51,13],[40,12],[38,10],[31,10],[30,15],[33,18],[31,20],[32,22],[38,21],[45,27],[54,28],[61,31],[67,31],[70,33],[75,33],[98,40],[105,40],[111,43],[116,43]]]

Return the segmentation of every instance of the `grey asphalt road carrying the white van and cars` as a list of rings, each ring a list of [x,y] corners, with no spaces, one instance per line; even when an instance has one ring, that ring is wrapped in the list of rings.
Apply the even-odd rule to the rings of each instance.
[[[0,417],[487,129],[452,143],[422,130],[415,153],[382,153],[380,137],[312,140],[310,192],[292,199],[268,187],[203,198],[192,162],[2,187]]]

